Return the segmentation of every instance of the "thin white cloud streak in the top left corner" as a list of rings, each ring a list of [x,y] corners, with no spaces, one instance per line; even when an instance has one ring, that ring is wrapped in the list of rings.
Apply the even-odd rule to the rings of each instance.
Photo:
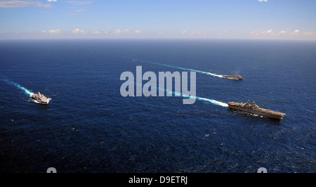
[[[37,6],[37,7],[50,7],[51,4],[42,4],[39,1],[28,0],[28,1],[0,1],[0,7],[2,8],[15,8],[15,7],[27,7],[27,6]]]

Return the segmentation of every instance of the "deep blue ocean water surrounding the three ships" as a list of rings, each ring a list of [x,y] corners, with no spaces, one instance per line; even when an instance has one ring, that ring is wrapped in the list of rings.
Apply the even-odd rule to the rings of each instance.
[[[315,60],[315,41],[1,41],[0,172],[315,172]],[[137,65],[244,80],[197,72],[192,105],[123,97],[120,75]],[[209,102],[247,99],[287,115]]]

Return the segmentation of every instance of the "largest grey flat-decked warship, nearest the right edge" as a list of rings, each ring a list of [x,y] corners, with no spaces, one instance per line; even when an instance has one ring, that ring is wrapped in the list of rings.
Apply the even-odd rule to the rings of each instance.
[[[249,112],[251,114],[262,115],[263,117],[270,117],[272,119],[281,120],[284,117],[284,113],[277,112],[269,109],[259,108],[255,102],[253,104],[249,104],[249,100],[246,103],[228,103],[228,108],[232,108],[235,110],[242,110],[244,112]]]

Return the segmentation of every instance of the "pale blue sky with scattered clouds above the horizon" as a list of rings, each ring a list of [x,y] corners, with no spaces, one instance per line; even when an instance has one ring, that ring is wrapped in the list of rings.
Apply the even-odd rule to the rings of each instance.
[[[316,40],[316,0],[0,0],[0,39]]]

